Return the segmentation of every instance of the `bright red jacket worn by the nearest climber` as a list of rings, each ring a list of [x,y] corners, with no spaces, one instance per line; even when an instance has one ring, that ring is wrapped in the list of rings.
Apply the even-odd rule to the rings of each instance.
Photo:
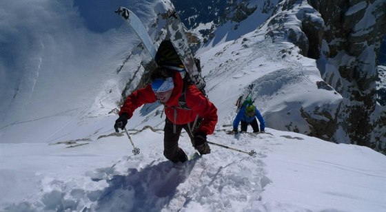
[[[196,85],[188,85],[186,88],[185,100],[187,107],[191,110],[176,108],[179,107],[179,98],[183,92],[183,79],[178,72],[174,74],[173,79],[174,89],[172,96],[170,96],[170,99],[165,103],[166,117],[176,125],[184,125],[194,122],[198,114],[203,120],[197,131],[203,131],[207,135],[212,134],[217,123],[217,108],[203,96]],[[147,85],[145,88],[136,90],[125,99],[119,115],[127,113],[129,118],[131,118],[135,109],[145,103],[154,103],[156,100],[152,85]],[[175,121],[174,109],[176,109]]]

